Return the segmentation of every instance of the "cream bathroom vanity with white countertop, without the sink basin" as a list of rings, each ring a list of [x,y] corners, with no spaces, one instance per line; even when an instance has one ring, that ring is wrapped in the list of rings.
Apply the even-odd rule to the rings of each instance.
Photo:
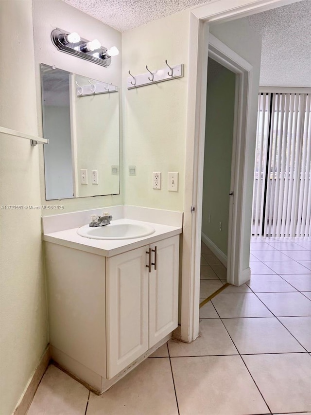
[[[78,228],[43,236],[52,359],[97,393],[177,327],[182,229],[145,225],[155,232],[131,239],[90,239]]]

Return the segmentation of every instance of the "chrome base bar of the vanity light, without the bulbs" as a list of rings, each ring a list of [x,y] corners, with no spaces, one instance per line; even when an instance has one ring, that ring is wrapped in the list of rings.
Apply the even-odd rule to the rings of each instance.
[[[101,46],[100,49],[96,49],[94,51],[81,51],[81,46],[85,45],[89,40],[80,38],[79,42],[76,43],[68,43],[66,41],[66,36],[69,36],[70,32],[66,32],[66,30],[62,30],[56,28],[52,30],[51,39],[53,45],[61,52],[65,52],[66,54],[70,54],[76,57],[80,57],[82,59],[86,59],[90,62],[96,63],[97,65],[104,66],[107,68],[111,64],[111,57],[100,57],[101,55],[105,55],[107,48]]]

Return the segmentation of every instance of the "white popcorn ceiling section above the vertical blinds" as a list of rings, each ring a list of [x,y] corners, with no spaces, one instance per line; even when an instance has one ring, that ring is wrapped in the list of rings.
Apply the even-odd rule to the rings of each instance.
[[[262,37],[260,85],[311,87],[311,0],[244,19]]]

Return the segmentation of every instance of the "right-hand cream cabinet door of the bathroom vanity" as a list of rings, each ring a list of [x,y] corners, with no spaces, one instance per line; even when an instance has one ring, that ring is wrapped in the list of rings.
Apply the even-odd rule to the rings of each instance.
[[[179,235],[156,242],[156,270],[149,274],[149,347],[178,325]],[[152,252],[155,262],[155,252]]]

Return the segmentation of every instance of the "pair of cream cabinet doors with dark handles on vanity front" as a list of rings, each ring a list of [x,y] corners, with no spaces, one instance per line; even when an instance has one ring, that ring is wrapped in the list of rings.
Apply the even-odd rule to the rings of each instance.
[[[179,236],[106,260],[107,379],[177,327]]]

